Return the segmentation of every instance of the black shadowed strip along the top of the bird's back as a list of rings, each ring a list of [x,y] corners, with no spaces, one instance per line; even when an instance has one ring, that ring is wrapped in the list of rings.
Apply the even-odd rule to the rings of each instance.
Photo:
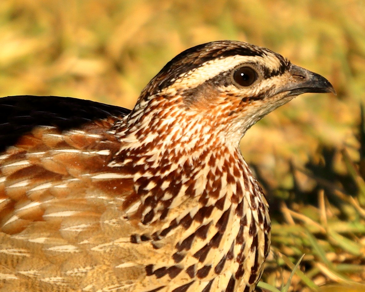
[[[8,96],[0,99],[0,151],[37,126],[60,131],[78,128],[93,120],[123,117],[130,110],[72,97]]]

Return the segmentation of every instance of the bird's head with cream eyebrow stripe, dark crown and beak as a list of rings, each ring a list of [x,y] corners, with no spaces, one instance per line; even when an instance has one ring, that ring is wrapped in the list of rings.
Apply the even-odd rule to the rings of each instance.
[[[142,91],[134,111],[151,114],[158,105],[158,119],[200,120],[239,140],[263,116],[307,92],[335,90],[326,78],[269,49],[216,41],[168,62]]]

